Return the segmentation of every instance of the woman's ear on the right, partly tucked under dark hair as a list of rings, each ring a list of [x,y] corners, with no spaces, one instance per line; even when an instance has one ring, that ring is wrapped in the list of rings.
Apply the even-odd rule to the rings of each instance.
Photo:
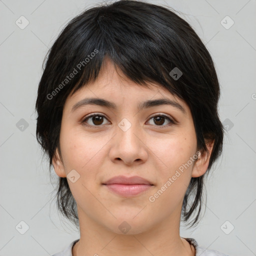
[[[203,154],[198,154],[197,160],[195,161],[195,164],[193,166],[191,177],[199,177],[203,175],[208,168],[211,151],[214,144],[214,139],[205,142],[209,153],[204,152]]]

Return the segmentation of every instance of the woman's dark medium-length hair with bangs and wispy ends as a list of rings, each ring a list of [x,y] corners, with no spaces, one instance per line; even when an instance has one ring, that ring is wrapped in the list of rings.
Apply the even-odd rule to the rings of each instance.
[[[191,26],[173,11],[132,0],[85,10],[65,26],[49,50],[36,100],[37,140],[49,164],[57,148],[61,156],[59,137],[66,99],[95,81],[106,59],[131,81],[141,86],[157,83],[188,105],[201,155],[207,154],[206,142],[214,141],[207,174],[221,153],[223,140],[217,112],[219,84],[212,58]],[[178,79],[169,74],[176,67],[182,72]],[[198,208],[192,224],[201,208],[203,177],[191,178],[183,199],[184,221]],[[188,207],[190,197],[193,200]],[[77,224],[66,177],[59,177],[57,203]]]

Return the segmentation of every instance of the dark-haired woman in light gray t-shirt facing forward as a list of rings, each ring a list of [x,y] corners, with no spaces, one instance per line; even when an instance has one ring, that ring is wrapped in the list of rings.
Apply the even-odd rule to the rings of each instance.
[[[209,52],[171,10],[120,0],[73,18],[36,101],[58,209],[80,230],[54,256],[224,255],[179,235],[222,150],[219,94]]]

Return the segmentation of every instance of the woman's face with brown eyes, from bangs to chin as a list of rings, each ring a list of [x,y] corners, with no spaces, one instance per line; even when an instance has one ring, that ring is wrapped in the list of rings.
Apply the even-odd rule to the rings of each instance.
[[[122,227],[135,234],[164,222],[179,224],[189,181],[208,165],[207,157],[196,160],[191,112],[157,84],[143,87],[120,73],[106,61],[95,82],[66,99],[55,172],[67,177],[79,221],[120,234]],[[88,98],[104,99],[115,107],[86,104]],[[157,99],[171,103],[138,108]],[[139,176],[148,183],[107,183],[119,175]]]

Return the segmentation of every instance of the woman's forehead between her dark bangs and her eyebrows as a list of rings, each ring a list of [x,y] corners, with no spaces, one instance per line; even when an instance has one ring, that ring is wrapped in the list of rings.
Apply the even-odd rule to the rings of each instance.
[[[146,82],[144,85],[130,80],[118,67],[114,67],[112,62],[107,58],[102,63],[97,79],[87,83],[75,93],[69,95],[66,103],[69,106],[68,108],[71,107],[73,109],[79,104],[88,103],[88,98],[90,98],[89,103],[93,102],[93,104],[112,108],[117,108],[119,105],[123,106],[123,104],[136,104],[137,108],[141,109],[159,105],[159,101],[149,102],[157,99],[169,100],[169,102],[162,104],[174,105],[184,113],[187,108],[187,105],[182,99],[173,95],[160,84]],[[93,100],[91,100],[92,98]],[[113,104],[103,102],[101,99],[111,101]]]

